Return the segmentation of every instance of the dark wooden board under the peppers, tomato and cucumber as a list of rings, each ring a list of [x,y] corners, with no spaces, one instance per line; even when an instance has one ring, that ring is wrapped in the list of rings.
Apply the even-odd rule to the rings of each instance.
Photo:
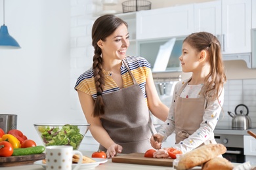
[[[30,165],[34,161],[45,159],[45,154],[32,154],[26,156],[0,157],[0,167],[11,167],[18,165]]]

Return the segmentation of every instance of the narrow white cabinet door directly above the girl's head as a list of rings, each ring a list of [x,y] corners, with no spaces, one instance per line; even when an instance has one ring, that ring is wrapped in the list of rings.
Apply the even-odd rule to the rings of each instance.
[[[221,36],[221,1],[194,5],[194,31],[206,31]]]

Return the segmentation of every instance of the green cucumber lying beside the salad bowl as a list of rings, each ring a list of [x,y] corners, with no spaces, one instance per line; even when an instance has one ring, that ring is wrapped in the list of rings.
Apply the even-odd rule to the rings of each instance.
[[[12,156],[23,156],[31,154],[41,154],[45,151],[45,146],[33,146],[29,148],[14,148]]]

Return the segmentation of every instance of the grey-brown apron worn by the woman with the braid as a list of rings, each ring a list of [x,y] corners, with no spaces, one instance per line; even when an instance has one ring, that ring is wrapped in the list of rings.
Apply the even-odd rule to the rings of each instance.
[[[111,139],[123,147],[123,154],[146,152],[152,148],[150,144],[152,134],[148,126],[148,122],[151,122],[150,114],[139,84],[126,63],[125,66],[133,78],[133,85],[102,95],[105,114],[100,120]],[[152,123],[150,126],[156,133]],[[99,149],[106,151],[102,145]]]

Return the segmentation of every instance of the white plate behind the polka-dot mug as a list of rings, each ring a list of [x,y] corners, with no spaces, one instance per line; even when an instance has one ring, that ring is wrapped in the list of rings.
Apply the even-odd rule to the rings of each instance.
[[[95,168],[96,166],[100,165],[101,163],[106,163],[108,161],[108,159],[103,159],[103,158],[93,158],[93,160],[95,160],[96,162],[93,162],[93,163],[82,163],[81,166],[79,167],[79,169],[93,169]],[[42,160],[39,160],[39,161],[35,161],[33,164],[35,165],[41,165],[43,168],[46,169],[46,164],[43,163]],[[72,164],[72,169],[75,168],[75,163]]]

